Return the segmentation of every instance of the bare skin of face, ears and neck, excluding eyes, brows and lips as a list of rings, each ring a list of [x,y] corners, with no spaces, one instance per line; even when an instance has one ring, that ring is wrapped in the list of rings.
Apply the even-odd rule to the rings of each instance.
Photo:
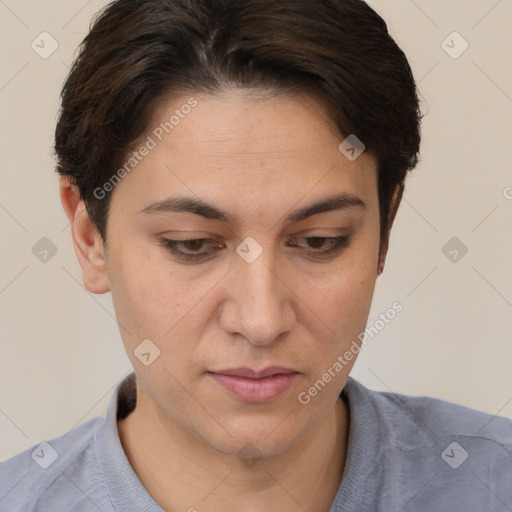
[[[312,97],[237,90],[192,96],[198,105],[115,187],[106,247],[76,187],[61,179],[84,285],[111,291],[137,375],[137,407],[118,422],[121,442],[165,510],[222,511],[237,503],[251,512],[325,512],[343,476],[349,420],[339,394],[355,358],[307,405],[298,395],[366,326],[388,240],[379,238],[376,160],[363,153],[349,161],[338,150],[344,137]],[[141,141],[189,97],[162,101]],[[366,206],[283,222],[334,194]],[[237,222],[141,213],[182,195]],[[330,244],[304,237],[343,234],[350,241],[339,252],[307,254]],[[162,237],[221,243],[181,247],[210,251],[190,263],[159,245]],[[246,237],[263,249],[252,263],[236,252]],[[148,338],[161,353],[145,366],[134,350]],[[207,374],[270,365],[299,375],[262,404],[239,400]],[[252,464],[237,456],[241,449],[252,453]]]

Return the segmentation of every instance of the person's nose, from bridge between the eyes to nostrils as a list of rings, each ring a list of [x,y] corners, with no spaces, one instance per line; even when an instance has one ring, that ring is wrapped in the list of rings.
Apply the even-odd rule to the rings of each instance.
[[[226,283],[221,325],[229,334],[243,336],[253,345],[273,343],[296,321],[294,294],[271,253],[264,250],[252,263],[236,256]]]

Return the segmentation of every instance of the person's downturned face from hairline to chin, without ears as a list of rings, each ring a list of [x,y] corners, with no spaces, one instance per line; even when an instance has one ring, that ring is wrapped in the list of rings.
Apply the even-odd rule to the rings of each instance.
[[[310,97],[192,96],[159,106],[112,193],[114,307],[162,421],[224,454],[275,455],[333,410],[354,364],[338,356],[377,276],[376,162],[349,161]]]

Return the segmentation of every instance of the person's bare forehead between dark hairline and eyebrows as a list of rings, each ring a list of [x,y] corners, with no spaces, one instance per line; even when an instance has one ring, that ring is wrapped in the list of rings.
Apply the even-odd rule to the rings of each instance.
[[[182,95],[155,109],[134,146],[151,150],[116,189],[129,189],[141,208],[178,194],[245,209],[333,193],[371,203],[375,160],[363,153],[350,161],[339,150],[343,139],[311,96]]]

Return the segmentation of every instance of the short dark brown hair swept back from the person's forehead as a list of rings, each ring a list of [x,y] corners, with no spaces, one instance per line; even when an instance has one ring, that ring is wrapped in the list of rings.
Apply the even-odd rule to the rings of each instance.
[[[105,241],[102,187],[170,94],[226,88],[309,92],[340,135],[378,162],[381,236],[415,167],[416,84],[384,20],[362,0],[117,0],[91,26],[64,84],[57,172],[78,187]],[[341,142],[341,140],[340,140]]]

